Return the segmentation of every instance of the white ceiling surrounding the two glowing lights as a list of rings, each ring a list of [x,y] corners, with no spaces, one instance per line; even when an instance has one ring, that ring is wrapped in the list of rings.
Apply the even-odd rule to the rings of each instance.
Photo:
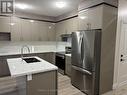
[[[57,8],[55,6],[57,1],[66,2],[66,7]],[[29,8],[24,10],[16,8],[16,12],[57,17],[77,9],[81,1],[83,0],[15,0],[15,4],[26,4],[29,6]]]

